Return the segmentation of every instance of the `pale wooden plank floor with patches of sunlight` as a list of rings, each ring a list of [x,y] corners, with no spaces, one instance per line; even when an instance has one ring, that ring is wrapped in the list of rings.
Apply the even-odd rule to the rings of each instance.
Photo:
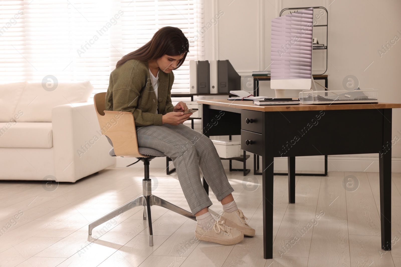
[[[0,266],[401,266],[401,174],[392,176],[394,240],[387,253],[380,249],[378,173],[296,177],[296,204],[288,204],[287,177],[275,176],[274,256],[266,260],[261,176],[226,172],[238,207],[256,229],[255,237],[231,246],[198,241],[195,221],[157,206],[153,247],[140,207],[89,236],[88,223],[142,194],[141,169],[108,168],[55,190],[40,182],[0,181]],[[176,173],[166,175],[162,168],[150,173],[154,195],[189,210]],[[343,186],[349,175],[359,182],[352,192]],[[211,209],[219,213],[221,204],[213,192],[210,197]]]

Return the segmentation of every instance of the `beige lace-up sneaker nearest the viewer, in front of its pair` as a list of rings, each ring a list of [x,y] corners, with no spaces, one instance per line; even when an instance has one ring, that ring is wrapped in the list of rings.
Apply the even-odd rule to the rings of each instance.
[[[201,241],[214,242],[221,245],[234,245],[244,239],[244,234],[237,229],[228,227],[224,224],[224,221],[216,221],[210,231],[196,224],[195,237]]]

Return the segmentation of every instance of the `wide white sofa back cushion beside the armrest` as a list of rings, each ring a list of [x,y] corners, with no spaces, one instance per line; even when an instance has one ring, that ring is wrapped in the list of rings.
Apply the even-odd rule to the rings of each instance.
[[[41,82],[27,83],[15,109],[24,113],[18,121],[51,122],[53,107],[88,102],[92,91],[93,86],[89,81],[61,82],[53,91],[45,90]]]

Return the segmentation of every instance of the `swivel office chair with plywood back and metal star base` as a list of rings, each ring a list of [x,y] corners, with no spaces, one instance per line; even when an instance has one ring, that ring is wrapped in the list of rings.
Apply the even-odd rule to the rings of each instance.
[[[138,147],[133,114],[131,112],[105,110],[105,96],[105,92],[97,93],[95,94],[93,102],[95,104],[97,120],[99,121],[102,134],[106,135],[110,145],[113,146],[113,148],[109,151],[109,155],[113,157],[135,157],[138,159],[138,161],[143,161],[145,172],[144,179],[142,180],[143,195],[90,223],[89,235],[92,234],[93,228],[113,219],[120,213],[126,212],[135,207],[144,206],[143,219],[148,219],[149,245],[153,246],[152,216],[150,212],[150,206],[158,205],[195,221],[196,218],[189,211],[186,211],[164,199],[161,199],[160,197],[152,195],[152,180],[149,178],[149,162],[156,157],[167,156],[156,149]],[[132,164],[128,165],[127,167],[131,166]]]

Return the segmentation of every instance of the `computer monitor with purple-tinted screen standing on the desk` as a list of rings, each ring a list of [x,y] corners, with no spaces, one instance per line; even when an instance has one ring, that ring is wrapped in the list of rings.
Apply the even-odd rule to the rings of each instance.
[[[286,89],[309,90],[312,82],[313,8],[271,20],[271,83],[276,97]]]

